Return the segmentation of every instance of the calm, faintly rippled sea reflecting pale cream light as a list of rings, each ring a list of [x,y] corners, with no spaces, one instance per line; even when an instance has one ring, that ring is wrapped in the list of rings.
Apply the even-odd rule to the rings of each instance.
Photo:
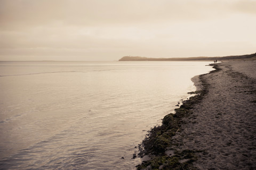
[[[134,169],[208,63],[0,62],[0,168]]]

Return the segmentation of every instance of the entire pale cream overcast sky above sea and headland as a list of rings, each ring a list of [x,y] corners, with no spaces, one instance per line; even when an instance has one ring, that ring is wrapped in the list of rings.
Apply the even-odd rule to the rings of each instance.
[[[256,52],[256,0],[0,0],[0,60]]]

